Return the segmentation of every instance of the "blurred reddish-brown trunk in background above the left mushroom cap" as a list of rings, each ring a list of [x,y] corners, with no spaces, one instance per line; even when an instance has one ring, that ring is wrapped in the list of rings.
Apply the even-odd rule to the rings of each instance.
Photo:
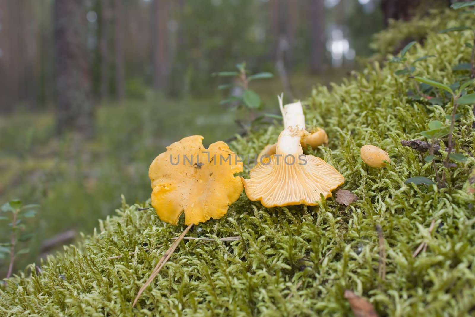
[[[169,72],[168,54],[169,1],[153,2],[153,84],[156,90],[163,90]]]

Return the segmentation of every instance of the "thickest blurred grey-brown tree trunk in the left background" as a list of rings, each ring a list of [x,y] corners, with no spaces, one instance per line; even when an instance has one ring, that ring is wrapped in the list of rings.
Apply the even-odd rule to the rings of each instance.
[[[94,134],[91,73],[87,52],[87,21],[82,1],[55,0],[53,4],[56,126]]]

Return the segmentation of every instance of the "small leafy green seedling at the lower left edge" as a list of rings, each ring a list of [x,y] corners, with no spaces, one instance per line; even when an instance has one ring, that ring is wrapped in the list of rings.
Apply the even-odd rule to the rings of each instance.
[[[0,221],[7,221],[8,223],[7,228],[2,229],[2,231],[10,231],[10,241],[0,243],[0,260],[10,256],[6,279],[10,278],[13,272],[15,257],[29,252],[28,248],[17,250],[17,247],[19,242],[26,242],[33,237],[32,233],[24,232],[26,226],[22,222],[26,218],[34,218],[36,215],[35,208],[37,207],[38,205],[36,204],[23,205],[20,200],[16,199],[5,203],[0,209]]]

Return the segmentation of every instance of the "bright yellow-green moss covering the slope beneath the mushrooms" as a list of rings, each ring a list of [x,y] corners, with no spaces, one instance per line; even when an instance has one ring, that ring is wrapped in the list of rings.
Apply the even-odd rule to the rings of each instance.
[[[426,21],[440,20],[441,29],[452,23],[441,17],[452,19],[452,13],[437,13]],[[452,67],[469,61],[471,50],[464,43],[473,40],[471,33],[437,34],[430,25],[424,44],[413,46],[406,57],[435,55],[417,64],[418,75],[452,85],[468,76]],[[394,75],[399,68],[368,65],[341,85],[317,86],[306,100],[307,124],[323,127],[329,135],[329,146],[311,154],[343,174],[342,189],[358,196],[349,207],[331,197],[314,207],[267,209],[242,193],[225,217],[199,224],[188,234],[215,241],[182,241],[132,308],[171,238],[185,226],[162,223],[153,209],[138,211],[150,201],[129,205],[123,199],[117,215],[100,221],[92,235],[48,256],[41,274],[35,269],[30,273],[30,266],[8,280],[0,290],[0,314],[350,316],[345,289],[368,298],[380,316],[474,314],[475,199],[464,190],[475,163],[474,115],[471,106],[457,110],[462,117],[455,125],[455,149],[467,159],[452,162],[446,187],[405,183],[415,176],[435,181],[435,173],[424,161],[427,154],[400,141],[422,139],[420,132],[430,121],[447,123],[452,106],[410,98],[414,83]],[[276,141],[281,128],[276,123],[230,146],[238,154],[257,154]],[[360,158],[364,144],[386,150],[391,163],[382,169],[365,165]],[[245,165],[244,176],[250,167]],[[432,219],[435,229],[429,234]],[[218,240],[229,236],[241,240]],[[413,257],[424,241],[427,250]],[[145,245],[163,246],[144,251]],[[132,251],[136,253],[129,255]],[[106,259],[115,255],[122,258]]]

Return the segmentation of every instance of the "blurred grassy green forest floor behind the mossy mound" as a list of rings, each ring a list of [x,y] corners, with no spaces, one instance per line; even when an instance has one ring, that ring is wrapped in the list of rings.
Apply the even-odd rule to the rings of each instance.
[[[308,96],[313,85],[340,80],[341,74],[298,75],[291,81],[299,87],[296,95]],[[276,95],[283,90],[278,78],[253,87],[264,101],[259,113],[277,113]],[[51,111],[1,116],[0,205],[19,198],[41,206],[37,219],[25,220],[35,239],[21,243],[31,251],[17,259],[15,268],[37,261],[45,239],[69,230],[77,236],[90,232],[97,219],[114,211],[121,194],[132,201],[150,197],[148,168],[165,146],[193,134],[211,144],[243,131],[235,120],[248,125],[248,110],[220,105],[226,96],[212,95],[179,100],[147,93],[144,99],[102,104],[96,112],[95,138],[87,142],[74,134],[55,136]],[[0,232],[0,242],[6,240],[9,236]],[[0,259],[0,276],[6,275],[6,264]]]

